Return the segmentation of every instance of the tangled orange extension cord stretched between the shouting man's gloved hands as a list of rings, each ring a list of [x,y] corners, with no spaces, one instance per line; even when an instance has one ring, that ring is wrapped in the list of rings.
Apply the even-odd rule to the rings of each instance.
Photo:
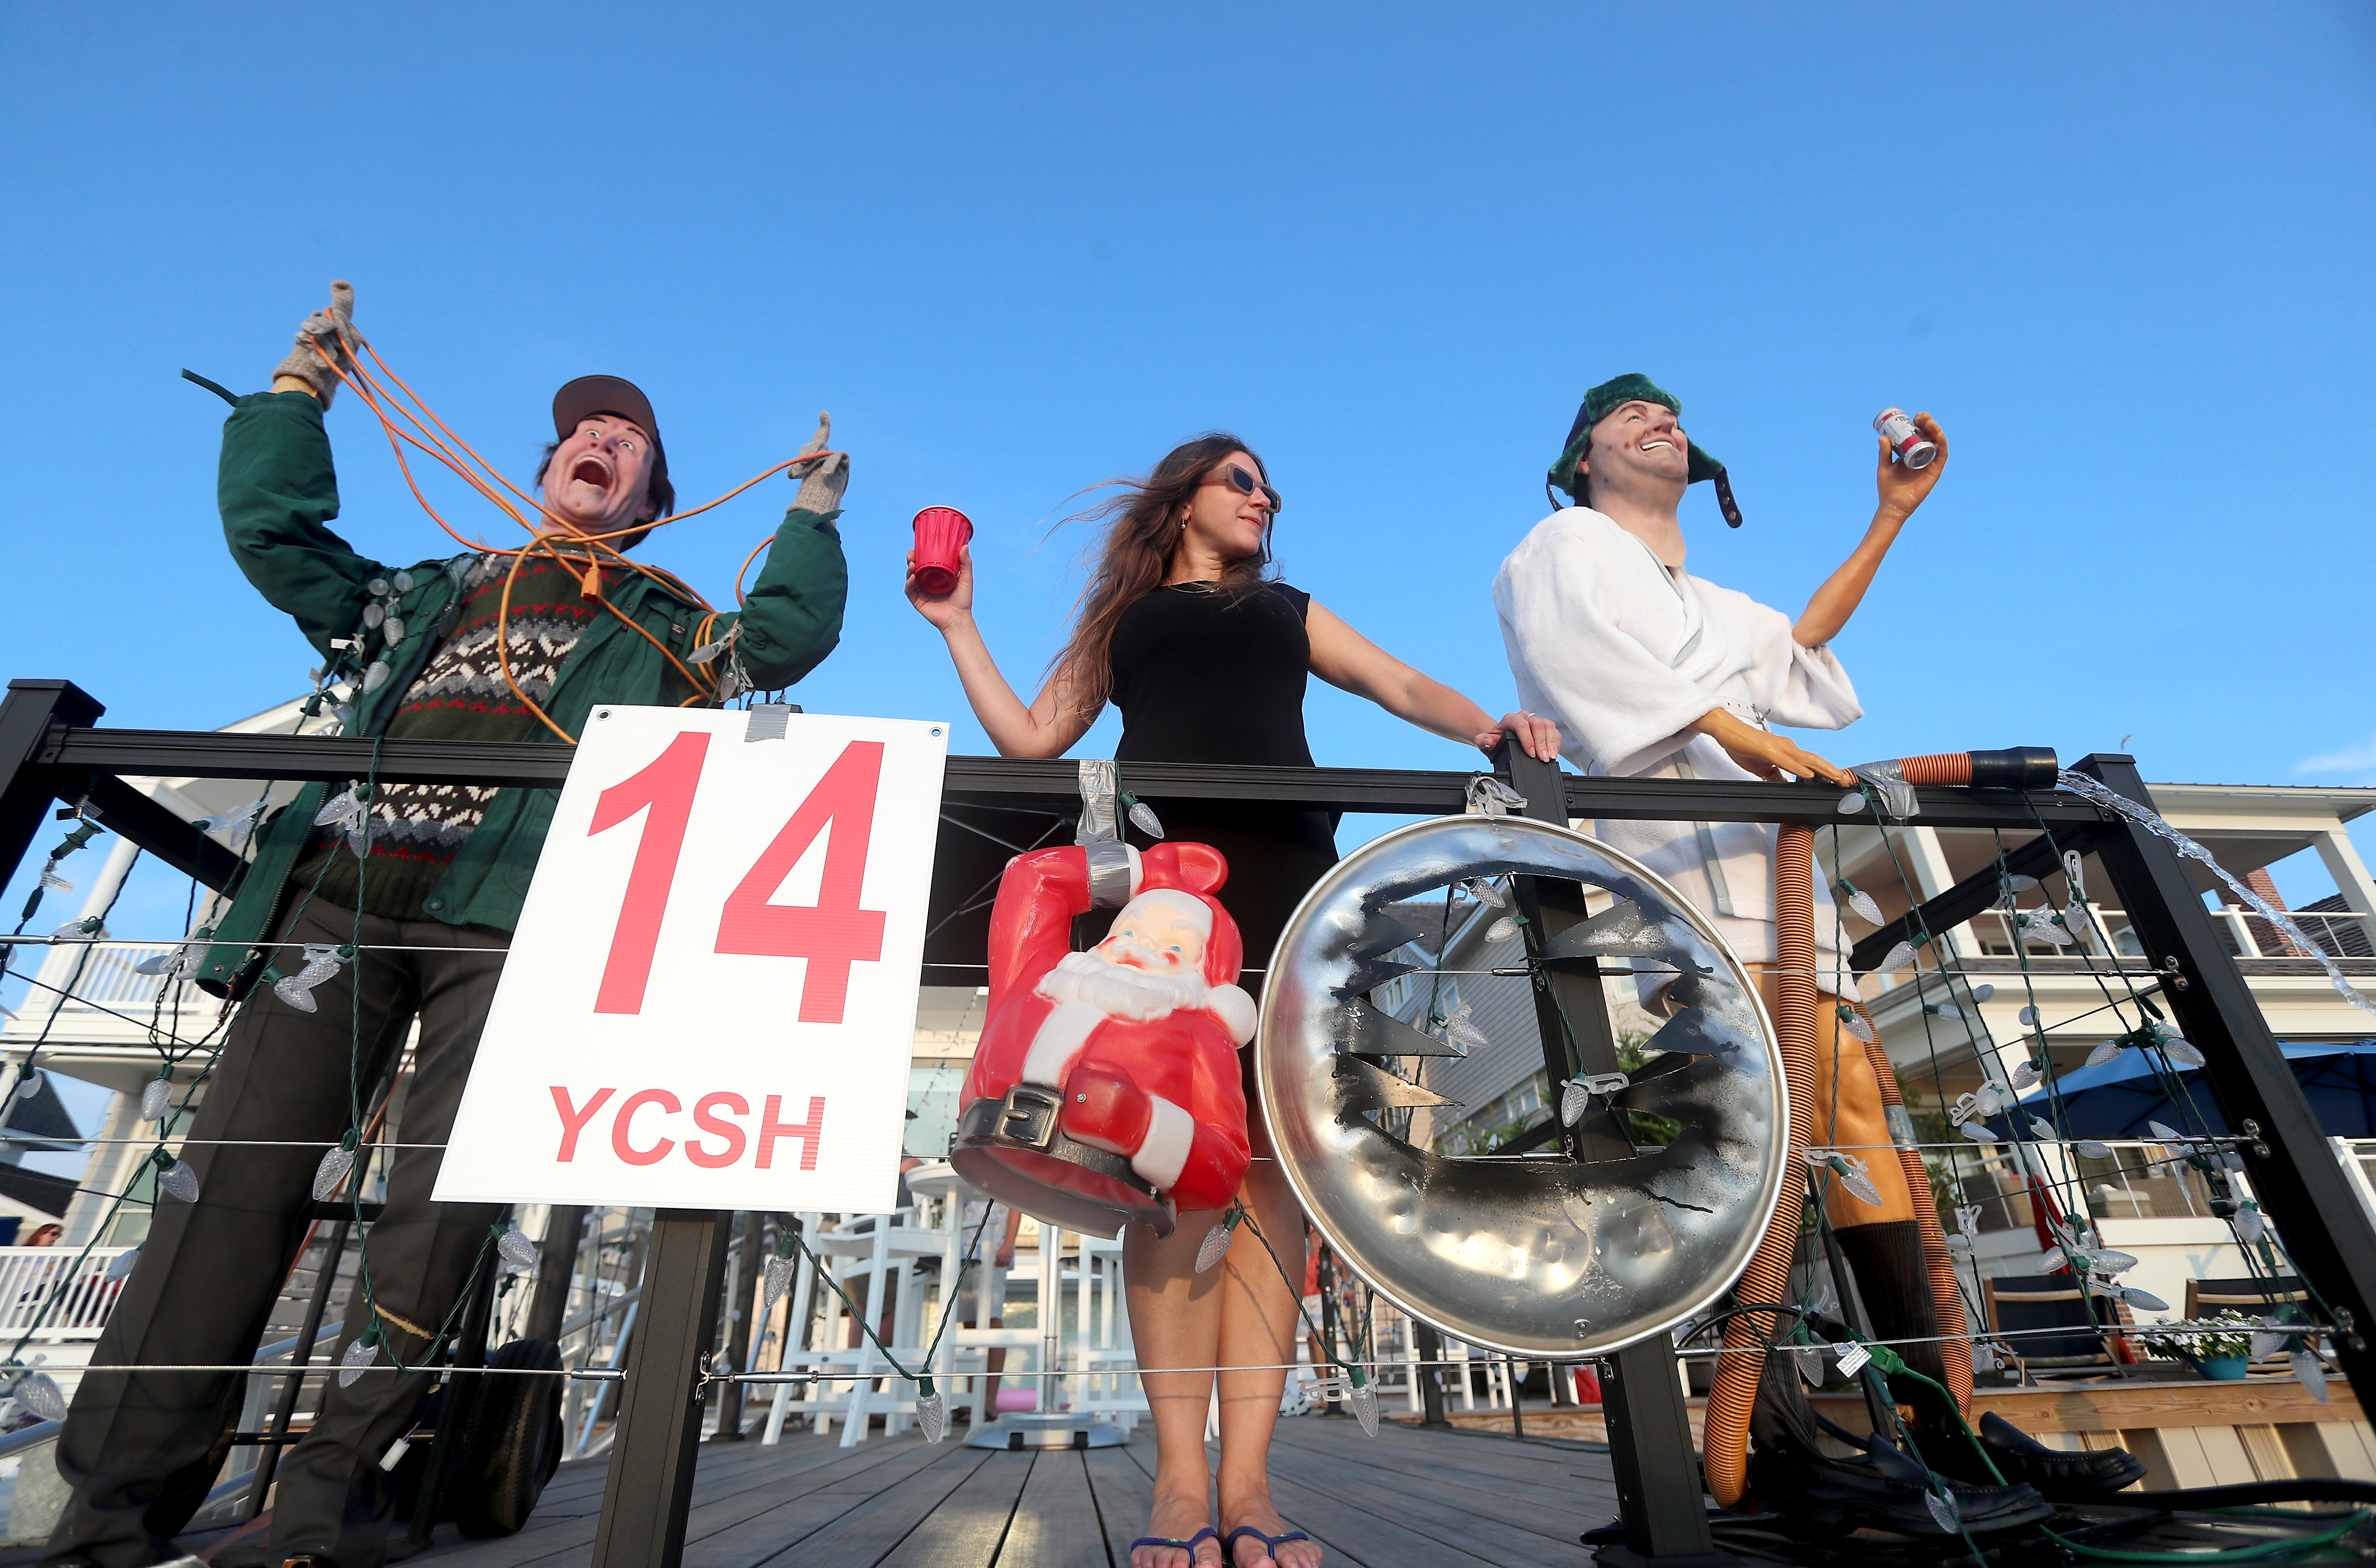
[[[665,518],[653,518],[651,523],[637,523],[634,527],[623,527],[623,530],[615,530],[615,532],[608,532],[608,535],[580,535],[575,527],[570,527],[568,523],[563,523],[561,518],[556,518],[551,513],[551,508],[546,508],[542,501],[537,501],[525,489],[520,489],[518,485],[513,485],[511,480],[506,480],[494,468],[494,463],[489,463],[487,459],[482,459],[468,442],[463,442],[459,435],[454,435],[454,430],[442,418],[437,418],[437,411],[430,409],[428,402],[418,392],[413,392],[411,385],[406,385],[402,375],[397,375],[394,371],[387,368],[387,361],[380,359],[380,352],[375,347],[371,347],[371,342],[366,342],[361,337],[347,337],[345,333],[340,335],[340,342],[347,347],[349,363],[340,366],[330,356],[323,356],[323,361],[330,366],[330,371],[347,387],[354,390],[356,399],[361,399],[364,406],[371,409],[371,413],[380,421],[380,430],[387,435],[387,447],[390,447],[390,451],[397,454],[397,468],[404,470],[404,485],[413,492],[413,499],[421,504],[421,511],[425,511],[430,516],[430,520],[437,527],[442,527],[447,532],[447,537],[451,537],[456,544],[461,544],[466,549],[473,549],[473,551],[480,551],[480,554],[489,554],[489,556],[511,556],[511,570],[504,577],[504,594],[501,594],[501,608],[499,608],[499,622],[497,625],[508,625],[511,622],[511,587],[513,587],[513,582],[518,582],[520,565],[530,556],[546,556],[556,565],[561,565],[563,570],[568,570],[573,577],[580,580],[580,584],[582,584],[580,592],[587,599],[594,599],[596,603],[601,603],[604,611],[608,611],[623,625],[632,627],[637,637],[642,637],[644,641],[649,641],[653,649],[661,651],[661,658],[665,658],[670,665],[677,668],[677,672],[694,689],[694,694],[687,696],[680,706],[694,706],[699,701],[715,698],[718,696],[718,682],[708,679],[706,672],[696,672],[691,665],[687,665],[684,660],[680,660],[675,656],[675,651],[668,649],[668,644],[663,644],[658,637],[651,634],[649,627],[644,627],[632,615],[627,615],[615,603],[611,603],[611,599],[601,592],[601,573],[604,573],[606,565],[611,565],[611,568],[625,568],[625,570],[639,573],[642,577],[646,577],[651,582],[658,582],[661,587],[665,587],[672,594],[682,594],[682,596],[691,599],[694,603],[699,603],[706,611],[706,618],[701,620],[701,627],[696,630],[696,641],[708,641],[710,627],[718,625],[718,611],[715,611],[715,606],[710,606],[708,599],[703,599],[699,592],[694,592],[691,584],[687,584],[682,577],[677,577],[675,573],[663,573],[658,568],[644,565],[642,561],[630,561],[623,551],[618,551],[618,549],[611,546],[611,539],[639,537],[639,535],[646,535],[646,532],[651,532],[656,527],[663,527],[668,523],[682,523],[684,518],[701,516],[701,513],[710,511],[713,506],[722,506],[725,501],[732,501],[734,497],[739,497],[741,492],[751,489],[760,480],[767,480],[767,478],[775,478],[777,473],[784,473],[786,468],[798,468],[803,463],[815,463],[815,461],[822,461],[822,459],[829,459],[829,456],[846,456],[846,454],[839,454],[839,451],[832,451],[832,449],[827,449],[827,451],[805,451],[805,454],[801,454],[796,459],[786,459],[786,461],[777,463],[775,468],[767,468],[765,473],[753,475],[751,480],[744,480],[741,485],[737,485],[734,489],[725,492],[715,501],[703,501],[701,506],[694,506],[689,511],[670,513]],[[356,349],[361,349],[364,354],[371,356],[371,363],[375,363],[380,368],[380,375],[385,375],[390,382],[394,382],[397,387],[402,387],[404,399],[411,399],[411,406],[406,406],[404,399],[399,399],[394,392],[390,392],[385,385],[380,385],[380,380],[373,378],[371,371],[364,368],[364,361],[356,356]],[[416,409],[418,409],[418,413],[416,413]],[[411,425],[411,430],[406,430],[404,425],[399,425],[397,423],[399,418],[404,421],[404,425]],[[413,435],[416,430],[418,430],[418,435]],[[430,506],[428,497],[421,494],[421,485],[413,478],[413,466],[404,456],[404,444],[406,442],[413,444],[413,447],[418,447],[421,451],[435,456],[463,485],[468,485],[470,489],[475,489],[497,511],[501,511],[513,523],[518,523],[520,527],[525,527],[532,535],[530,542],[525,546],[520,546],[520,549],[497,549],[492,544],[485,544],[480,539],[468,539],[461,532],[456,532],[454,525],[447,523],[437,513],[435,506]],[[451,447],[447,442],[451,442]],[[463,454],[468,454],[468,461],[466,461]],[[523,516],[520,506],[513,506],[513,501],[506,499],[497,487],[511,492],[511,497],[516,497],[520,501],[520,506],[527,506],[530,511],[535,511],[537,518],[539,518],[539,523],[554,523],[556,527],[542,527],[539,523],[530,523],[527,516]],[[744,601],[744,587],[741,587],[744,573],[751,570],[751,561],[758,561],[760,551],[765,551],[767,544],[772,544],[772,542],[775,542],[775,532],[770,532],[765,539],[760,539],[758,549],[753,549],[751,556],[744,561],[744,570],[734,575],[734,601],[737,603]],[[582,556],[565,554],[563,546],[582,549],[584,554]],[[561,725],[556,725],[554,715],[546,713],[542,703],[537,703],[532,696],[527,696],[527,691],[520,689],[520,682],[511,672],[511,646],[508,646],[508,639],[501,637],[501,634],[494,639],[494,658],[497,658],[497,668],[504,675],[504,684],[511,687],[511,694],[516,698],[520,698],[520,703],[530,713],[535,713],[537,720],[546,729],[551,729],[563,741],[575,744],[577,736],[570,734],[568,729],[563,729]]]

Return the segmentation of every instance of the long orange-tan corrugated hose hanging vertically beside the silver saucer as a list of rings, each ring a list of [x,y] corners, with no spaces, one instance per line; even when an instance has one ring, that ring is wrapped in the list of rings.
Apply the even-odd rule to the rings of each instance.
[[[1799,1247],[1799,1214],[1806,1207],[1806,1145],[1813,1107],[1806,1086],[1815,1081],[1815,832],[1784,824],[1775,846],[1775,1038],[1782,1045],[1782,1081],[1789,1086],[1789,1166],[1782,1202],[1765,1226],[1734,1292],[1744,1302],[1789,1300],[1789,1259]],[[1749,1411],[1758,1402],[1765,1345],[1775,1335],[1772,1314],[1732,1319],[1708,1390],[1706,1473],[1708,1492],[1725,1509],[1749,1487]]]

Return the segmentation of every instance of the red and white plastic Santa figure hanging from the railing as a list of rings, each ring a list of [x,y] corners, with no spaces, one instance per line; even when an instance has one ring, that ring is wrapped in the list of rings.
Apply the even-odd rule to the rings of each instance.
[[[1093,853],[1098,855],[1093,862]],[[1245,1181],[1238,924],[1205,843],[1074,846],[1017,855],[991,910],[991,1007],[965,1079],[958,1174],[1024,1214],[1117,1235],[1178,1209],[1221,1209]],[[1072,950],[1072,919],[1114,908]]]

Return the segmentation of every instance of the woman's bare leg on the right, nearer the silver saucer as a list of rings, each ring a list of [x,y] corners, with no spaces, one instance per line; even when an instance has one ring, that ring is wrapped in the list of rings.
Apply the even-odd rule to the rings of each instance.
[[[1255,1164],[1245,1174],[1238,1200],[1262,1226],[1269,1250],[1255,1238],[1238,1240],[1221,1266],[1221,1366],[1245,1371],[1221,1373],[1221,1535],[1252,1525],[1281,1535],[1288,1523],[1271,1504],[1271,1428],[1278,1425],[1278,1397],[1288,1385],[1285,1364],[1295,1359],[1297,1290],[1304,1283],[1304,1212],[1295,1202],[1262,1112],[1250,1117]],[[1278,1262],[1271,1262],[1271,1252]],[[1231,1558],[1236,1568],[1269,1568],[1271,1554],[1245,1537]],[[1312,1542],[1285,1542],[1276,1568],[1319,1568],[1321,1549]]]

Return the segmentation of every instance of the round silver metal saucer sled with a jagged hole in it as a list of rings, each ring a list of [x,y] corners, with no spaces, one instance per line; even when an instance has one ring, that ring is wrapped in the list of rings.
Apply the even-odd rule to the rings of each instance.
[[[1680,1124],[1670,1145],[1604,1162],[1449,1157],[1378,1126],[1388,1107],[1435,1100],[1385,1062],[1459,1055],[1366,998],[1409,972],[1388,955],[1416,938],[1385,908],[1506,872],[1613,898],[1552,950],[1528,931],[1533,962],[1649,957],[1682,972],[1654,1055],[1609,1095]],[[1278,1159],[1328,1245],[1414,1316],[1518,1357],[1606,1354],[1711,1307],[1749,1266],[1787,1174],[1782,1055],[1749,972],[1661,877],[1523,817],[1437,817],[1340,860],[1278,938],[1255,1074]]]

